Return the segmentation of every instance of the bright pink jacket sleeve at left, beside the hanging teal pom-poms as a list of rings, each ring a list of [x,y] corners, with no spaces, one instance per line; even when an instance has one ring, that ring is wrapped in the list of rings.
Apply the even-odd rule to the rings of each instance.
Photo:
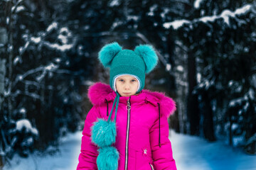
[[[82,145],[81,145],[81,152],[78,157],[78,167],[77,170],[83,170],[83,169],[90,169],[95,170],[97,169],[97,146],[94,145],[90,139],[91,137],[91,126],[92,123],[94,123],[97,118],[100,117],[100,113],[96,106],[93,106],[92,109],[89,111],[89,113],[86,116],[85,119],[85,126],[82,130]]]

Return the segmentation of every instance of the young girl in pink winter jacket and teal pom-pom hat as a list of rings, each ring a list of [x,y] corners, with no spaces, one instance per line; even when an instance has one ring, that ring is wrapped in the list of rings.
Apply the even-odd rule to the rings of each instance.
[[[145,74],[156,66],[150,45],[122,50],[117,42],[99,52],[110,67],[110,85],[90,86],[93,104],[82,131],[77,169],[176,169],[167,118],[175,102],[164,94],[142,90]]]

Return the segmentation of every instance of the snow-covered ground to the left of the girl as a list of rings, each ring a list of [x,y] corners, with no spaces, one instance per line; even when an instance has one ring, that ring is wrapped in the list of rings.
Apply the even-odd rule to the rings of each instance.
[[[81,133],[68,135],[60,145],[60,152],[53,155],[33,153],[28,158],[15,155],[11,166],[4,166],[4,170],[70,170],[76,169],[81,147]]]

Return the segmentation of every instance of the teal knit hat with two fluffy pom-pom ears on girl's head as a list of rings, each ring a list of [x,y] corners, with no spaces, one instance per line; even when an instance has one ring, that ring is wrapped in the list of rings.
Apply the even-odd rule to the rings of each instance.
[[[102,47],[99,59],[105,68],[110,68],[110,86],[114,91],[117,77],[130,75],[139,81],[138,93],[144,88],[145,74],[154,69],[158,57],[151,45],[138,45],[133,51],[122,50],[117,42],[112,42]]]

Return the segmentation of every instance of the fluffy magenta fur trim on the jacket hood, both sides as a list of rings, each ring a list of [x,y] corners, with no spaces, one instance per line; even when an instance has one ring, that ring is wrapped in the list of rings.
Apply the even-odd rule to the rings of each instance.
[[[154,106],[158,106],[157,103],[160,104],[161,107],[161,115],[166,115],[169,117],[171,114],[176,111],[176,103],[172,98],[165,96],[161,92],[142,90],[142,94],[146,94],[146,101],[149,101]],[[95,106],[100,106],[107,101],[114,101],[116,94],[111,89],[110,85],[102,84],[97,82],[89,87],[88,89],[88,97],[91,103]],[[138,97],[140,94],[138,95]]]

